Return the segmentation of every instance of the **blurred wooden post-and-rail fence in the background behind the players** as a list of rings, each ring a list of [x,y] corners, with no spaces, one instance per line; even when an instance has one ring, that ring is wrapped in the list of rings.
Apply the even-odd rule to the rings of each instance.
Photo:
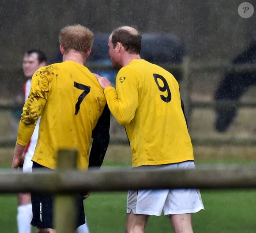
[[[191,118],[192,111],[196,108],[217,108],[217,107],[246,107],[246,108],[255,108],[256,100],[252,102],[237,102],[225,100],[222,102],[205,102],[205,101],[194,101],[191,98],[191,74],[192,73],[201,73],[201,72],[221,72],[221,71],[256,71],[256,64],[243,64],[243,65],[234,65],[234,64],[224,64],[224,63],[194,63],[191,62],[189,57],[185,57],[183,63],[178,65],[160,64],[162,67],[166,68],[170,72],[179,72],[182,75],[180,86],[181,86],[181,96],[186,106],[186,116],[189,119]],[[88,63],[87,66],[91,70],[111,70],[113,69],[109,65],[95,65],[93,63]],[[20,109],[22,106],[14,105],[13,103],[0,103],[0,111],[10,111],[11,109]],[[221,139],[221,138],[192,138],[194,144],[237,144],[237,140],[233,139]],[[122,143],[123,140],[115,140],[116,143]],[[126,141],[125,141],[126,142]],[[13,141],[10,140],[1,140],[0,147],[8,147],[13,145]],[[252,145],[256,144],[255,139],[245,139],[239,142],[241,145]]]

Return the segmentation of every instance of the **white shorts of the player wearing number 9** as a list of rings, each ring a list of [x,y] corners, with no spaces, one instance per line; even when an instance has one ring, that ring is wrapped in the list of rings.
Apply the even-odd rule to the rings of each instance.
[[[141,166],[145,168],[146,166]],[[149,166],[160,170],[193,169],[193,161],[167,165]],[[127,213],[156,215],[177,215],[196,213],[203,210],[203,201],[199,189],[148,189],[130,190],[127,196]]]

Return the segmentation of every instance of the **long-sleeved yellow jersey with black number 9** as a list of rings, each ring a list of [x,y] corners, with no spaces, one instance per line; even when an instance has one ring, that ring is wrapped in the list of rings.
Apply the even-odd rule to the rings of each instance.
[[[125,126],[132,166],[194,160],[179,85],[168,71],[134,59],[104,90],[109,109]]]

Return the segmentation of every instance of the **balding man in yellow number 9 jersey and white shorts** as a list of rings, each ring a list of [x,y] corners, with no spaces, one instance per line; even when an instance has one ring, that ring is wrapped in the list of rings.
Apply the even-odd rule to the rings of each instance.
[[[141,59],[141,34],[135,28],[117,28],[108,45],[113,66],[120,68],[116,89],[106,78],[94,75],[111,113],[125,126],[132,166],[193,169],[193,149],[176,79],[162,67]],[[192,233],[192,213],[203,208],[197,189],[130,190],[126,232],[143,233],[148,216],[160,216],[163,211],[175,233]]]

